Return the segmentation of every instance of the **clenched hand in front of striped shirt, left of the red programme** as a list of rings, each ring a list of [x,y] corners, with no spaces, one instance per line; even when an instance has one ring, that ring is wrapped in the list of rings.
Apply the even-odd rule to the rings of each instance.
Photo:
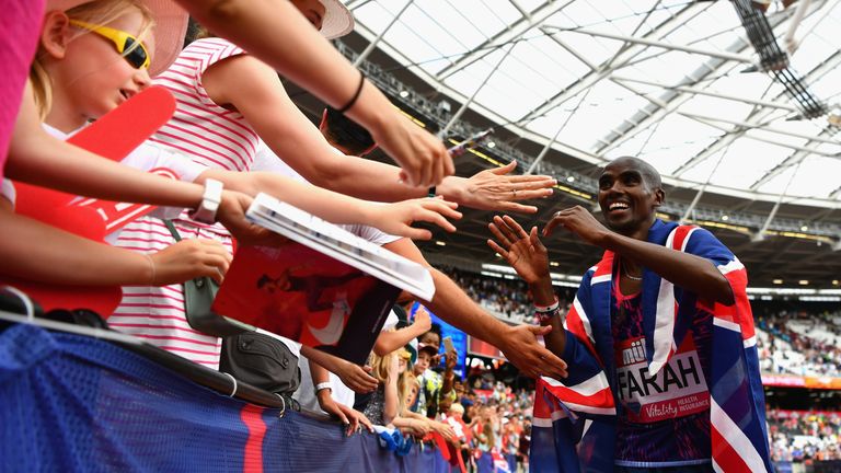
[[[203,239],[182,240],[149,257],[154,286],[181,284],[204,276],[221,282],[232,258],[221,243]]]

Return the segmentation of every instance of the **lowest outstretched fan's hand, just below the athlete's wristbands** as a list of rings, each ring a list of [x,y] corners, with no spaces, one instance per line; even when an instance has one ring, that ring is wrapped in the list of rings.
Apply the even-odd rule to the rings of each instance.
[[[541,376],[563,379],[566,378],[566,362],[538,343],[538,336],[552,331],[552,325],[515,325],[508,327],[508,333],[502,337],[499,349],[508,361],[531,378]]]

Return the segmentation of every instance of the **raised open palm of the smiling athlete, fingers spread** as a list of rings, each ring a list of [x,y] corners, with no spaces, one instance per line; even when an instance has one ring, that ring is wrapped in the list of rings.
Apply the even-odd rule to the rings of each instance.
[[[538,228],[526,231],[508,216],[494,217],[488,229],[494,240],[487,240],[491,250],[497,252],[528,284],[549,277],[549,253],[538,238]]]

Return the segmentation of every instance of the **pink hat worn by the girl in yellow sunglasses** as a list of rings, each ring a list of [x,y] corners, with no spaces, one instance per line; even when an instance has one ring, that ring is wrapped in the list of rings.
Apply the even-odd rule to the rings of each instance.
[[[92,0],[47,0],[46,11],[67,11],[90,1]],[[175,0],[140,0],[140,3],[152,12],[155,22],[154,55],[149,67],[149,74],[154,77],[166,70],[178,57],[187,33],[188,15]]]

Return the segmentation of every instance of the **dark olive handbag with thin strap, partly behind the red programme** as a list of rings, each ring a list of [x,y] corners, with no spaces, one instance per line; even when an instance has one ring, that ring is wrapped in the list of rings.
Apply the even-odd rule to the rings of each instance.
[[[163,222],[170,229],[175,241],[181,241],[181,234],[172,220],[164,220]],[[254,327],[251,325],[219,315],[210,309],[218,291],[219,285],[208,276],[184,282],[184,311],[189,326],[204,334],[218,337],[253,331]]]

